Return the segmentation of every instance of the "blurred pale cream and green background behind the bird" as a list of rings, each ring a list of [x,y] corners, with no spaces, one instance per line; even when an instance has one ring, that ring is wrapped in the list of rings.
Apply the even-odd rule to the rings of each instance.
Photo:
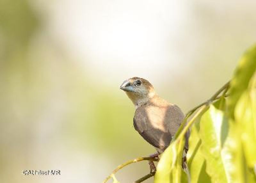
[[[0,182],[101,182],[154,153],[119,89],[148,79],[184,112],[232,76],[256,40],[255,1],[1,0]],[[61,170],[24,176],[22,170]],[[116,174],[148,173],[147,162]],[[147,182],[152,182],[149,179]]]

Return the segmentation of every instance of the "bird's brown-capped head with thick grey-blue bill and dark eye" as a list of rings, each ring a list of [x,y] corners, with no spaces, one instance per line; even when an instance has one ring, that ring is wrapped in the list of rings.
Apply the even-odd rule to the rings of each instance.
[[[140,77],[132,77],[125,80],[120,86],[120,89],[126,92],[135,107],[142,105],[155,96],[152,84],[150,84],[148,80]]]

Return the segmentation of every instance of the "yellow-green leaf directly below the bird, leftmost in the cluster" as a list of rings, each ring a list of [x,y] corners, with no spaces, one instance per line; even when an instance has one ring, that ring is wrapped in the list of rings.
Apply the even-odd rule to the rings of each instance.
[[[184,144],[184,138],[180,142],[175,140],[164,151],[157,164],[154,183],[187,182],[186,174],[181,167]]]

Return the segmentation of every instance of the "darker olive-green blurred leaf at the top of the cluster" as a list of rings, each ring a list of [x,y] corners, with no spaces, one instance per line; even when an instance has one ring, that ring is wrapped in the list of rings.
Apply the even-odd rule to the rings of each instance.
[[[256,46],[241,58],[230,83],[229,115],[234,119],[234,110],[242,93],[248,88],[249,81],[256,70]]]

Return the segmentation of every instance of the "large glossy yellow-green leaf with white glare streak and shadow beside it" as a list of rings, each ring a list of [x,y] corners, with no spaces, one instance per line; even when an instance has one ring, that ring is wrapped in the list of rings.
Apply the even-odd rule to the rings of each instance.
[[[200,121],[201,153],[212,182],[256,182],[255,174],[245,163],[241,127],[227,119],[221,110],[210,106]]]

